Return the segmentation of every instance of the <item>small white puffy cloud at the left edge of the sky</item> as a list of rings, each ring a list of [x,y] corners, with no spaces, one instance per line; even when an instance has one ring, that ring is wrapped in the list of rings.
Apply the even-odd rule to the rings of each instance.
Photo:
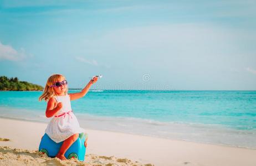
[[[0,42],[0,60],[19,61],[25,58],[25,50],[21,48],[19,51],[12,48],[11,45],[3,45]]]

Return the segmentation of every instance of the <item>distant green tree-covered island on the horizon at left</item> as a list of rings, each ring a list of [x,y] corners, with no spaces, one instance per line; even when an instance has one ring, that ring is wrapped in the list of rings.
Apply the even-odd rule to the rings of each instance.
[[[1,91],[41,91],[43,86],[32,84],[26,81],[19,81],[17,77],[0,76]]]

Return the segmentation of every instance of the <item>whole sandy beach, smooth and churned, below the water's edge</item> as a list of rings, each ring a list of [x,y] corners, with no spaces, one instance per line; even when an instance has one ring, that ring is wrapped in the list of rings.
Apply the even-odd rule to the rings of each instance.
[[[46,123],[0,118],[0,165],[255,165],[256,150],[88,129],[85,162],[38,153]],[[6,140],[4,140],[6,139]],[[8,141],[9,139],[9,141]]]

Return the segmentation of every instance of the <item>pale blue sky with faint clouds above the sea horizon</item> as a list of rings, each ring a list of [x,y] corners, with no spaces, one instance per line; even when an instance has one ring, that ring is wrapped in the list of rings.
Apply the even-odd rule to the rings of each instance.
[[[0,1],[0,75],[44,86],[256,90],[256,1]]]

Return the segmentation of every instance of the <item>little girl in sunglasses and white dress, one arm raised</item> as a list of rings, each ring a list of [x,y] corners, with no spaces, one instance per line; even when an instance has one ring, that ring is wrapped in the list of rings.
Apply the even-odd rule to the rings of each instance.
[[[46,117],[53,117],[45,133],[56,143],[63,142],[62,147],[56,157],[61,160],[68,148],[78,139],[79,133],[84,133],[84,129],[80,128],[70,105],[70,100],[76,100],[85,96],[90,86],[98,80],[93,77],[81,92],[68,94],[68,82],[65,77],[60,74],[50,76],[45,85],[43,94],[39,97],[39,101],[48,101],[45,111]],[[87,146],[87,139],[84,143]]]

